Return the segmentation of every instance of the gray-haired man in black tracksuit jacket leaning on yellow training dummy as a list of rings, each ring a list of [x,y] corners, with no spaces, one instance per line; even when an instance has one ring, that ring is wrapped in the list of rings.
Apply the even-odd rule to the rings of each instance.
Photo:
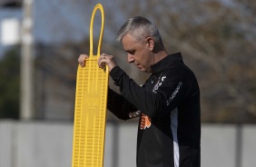
[[[129,63],[152,74],[143,86],[134,83],[113,55],[101,54],[100,68],[108,65],[120,93],[109,89],[108,109],[126,120],[140,116],[137,139],[138,167],[200,166],[200,90],[182,55],[168,54],[155,25],[137,16],[119,30]],[[84,66],[88,55],[78,62]]]

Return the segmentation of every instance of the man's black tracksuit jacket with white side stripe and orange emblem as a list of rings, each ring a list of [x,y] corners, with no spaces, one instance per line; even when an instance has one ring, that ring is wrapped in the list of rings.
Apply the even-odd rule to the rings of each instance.
[[[152,75],[139,86],[116,66],[110,72],[120,93],[109,89],[108,109],[127,120],[140,116],[138,167],[199,167],[201,159],[200,90],[182,62],[170,54],[152,66]]]

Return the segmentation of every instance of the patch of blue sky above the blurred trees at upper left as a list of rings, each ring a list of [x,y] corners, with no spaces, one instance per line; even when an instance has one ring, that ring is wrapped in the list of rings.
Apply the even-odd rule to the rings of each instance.
[[[36,43],[44,44],[79,42],[85,37],[89,36],[91,15],[96,4],[101,3],[103,5],[105,15],[107,15],[105,10],[107,8],[113,8],[115,9],[114,12],[118,12],[117,7],[114,7],[115,3],[106,3],[105,1],[86,2],[87,1],[84,0],[34,1],[34,41]],[[5,18],[13,17],[18,18],[21,21],[22,9],[0,8],[0,22],[2,22],[2,20]],[[120,17],[120,15],[117,15],[117,17]],[[97,12],[94,19],[95,34],[98,34],[97,32],[99,32],[99,27],[97,27],[97,25],[101,25],[101,20],[99,18],[100,13]],[[116,18],[114,18],[114,20],[116,20]],[[108,27],[110,26],[108,26],[105,21],[104,38],[111,36],[108,41],[114,42],[114,35],[120,25],[116,26],[116,30],[110,29]],[[4,46],[3,44],[0,44],[0,57],[9,47],[12,46]]]

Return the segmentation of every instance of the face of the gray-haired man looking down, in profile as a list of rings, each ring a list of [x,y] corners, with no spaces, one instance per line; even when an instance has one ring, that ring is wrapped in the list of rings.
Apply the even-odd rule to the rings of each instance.
[[[141,71],[151,73],[153,53],[147,40],[137,42],[130,34],[123,36],[123,49],[127,52],[127,60],[136,65]]]

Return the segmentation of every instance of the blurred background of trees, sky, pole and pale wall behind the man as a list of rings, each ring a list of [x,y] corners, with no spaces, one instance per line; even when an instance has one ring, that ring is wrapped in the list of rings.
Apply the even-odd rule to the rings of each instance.
[[[167,51],[182,52],[201,88],[202,166],[255,166],[256,1],[0,0],[0,167],[71,166],[77,58],[98,3],[102,53],[136,83],[148,74],[115,42],[127,19],[148,18]],[[100,26],[98,12],[94,48]],[[135,166],[137,123],[107,113],[105,167]]]

